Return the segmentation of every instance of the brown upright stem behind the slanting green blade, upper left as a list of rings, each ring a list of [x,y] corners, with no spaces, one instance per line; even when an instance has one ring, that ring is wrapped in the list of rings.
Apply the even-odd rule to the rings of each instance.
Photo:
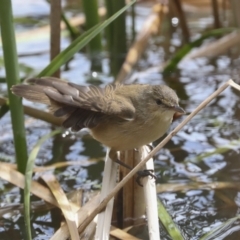
[[[50,60],[54,59],[60,53],[61,42],[61,0],[51,0],[50,13]],[[52,76],[60,77],[60,69],[58,69]]]

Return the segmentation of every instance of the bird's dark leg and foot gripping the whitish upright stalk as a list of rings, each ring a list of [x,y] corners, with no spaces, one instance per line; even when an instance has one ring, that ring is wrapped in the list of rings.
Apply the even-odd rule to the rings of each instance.
[[[122,162],[118,159],[117,151],[111,149],[110,152],[109,152],[109,157],[112,159],[112,161],[114,161],[114,162],[118,163],[119,165],[129,169],[130,171],[133,169],[132,167],[130,167],[129,165],[125,164],[124,162]],[[138,176],[137,176],[136,182],[141,187],[143,187],[143,185],[140,183],[141,178],[147,177],[147,176],[150,176],[154,179],[157,178],[152,169],[141,170],[141,171],[138,171],[137,174],[138,174]]]

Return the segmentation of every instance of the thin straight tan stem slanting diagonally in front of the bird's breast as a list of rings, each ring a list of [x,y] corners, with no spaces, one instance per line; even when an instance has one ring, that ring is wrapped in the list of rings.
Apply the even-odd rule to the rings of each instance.
[[[210,103],[215,97],[223,92],[228,86],[235,86],[235,83],[230,79],[223,86],[218,88],[207,99],[205,99],[190,115],[188,115],[173,131],[171,131],[149,154],[144,158],[129,174],[119,182],[116,187],[103,199],[100,204],[92,211],[91,214],[85,219],[84,223],[78,228],[79,232],[82,232],[86,226],[93,220],[93,218],[101,212],[107,203],[115,196],[115,194],[145,165],[145,163],[152,158],[165,144],[177,134],[200,110],[202,110],[208,103]],[[240,86],[239,86],[240,88]]]

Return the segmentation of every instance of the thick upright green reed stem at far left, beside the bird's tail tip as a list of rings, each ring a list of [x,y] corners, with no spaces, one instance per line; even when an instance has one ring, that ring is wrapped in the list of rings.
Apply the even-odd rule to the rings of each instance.
[[[21,173],[24,173],[27,164],[27,144],[25,137],[22,101],[20,97],[13,95],[10,91],[12,85],[20,83],[12,15],[12,3],[10,0],[0,1],[0,24],[10,112],[12,118],[15,155],[18,170]]]

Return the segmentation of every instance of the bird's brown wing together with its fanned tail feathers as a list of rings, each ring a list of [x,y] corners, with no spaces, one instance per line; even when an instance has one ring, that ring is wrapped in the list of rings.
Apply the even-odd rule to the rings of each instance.
[[[80,86],[52,77],[32,78],[27,82],[31,85],[14,86],[13,93],[51,105],[55,116],[64,117],[63,126],[71,127],[74,131],[83,127],[92,128],[106,115],[125,120],[135,117],[132,103],[115,94],[115,90],[123,85],[110,84],[105,88]]]

